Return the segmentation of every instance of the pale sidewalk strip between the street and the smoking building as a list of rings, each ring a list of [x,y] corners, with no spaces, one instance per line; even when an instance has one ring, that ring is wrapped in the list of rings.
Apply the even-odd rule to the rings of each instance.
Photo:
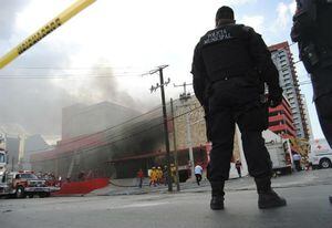
[[[320,175],[325,178],[319,178]],[[272,178],[273,188],[290,188],[290,187],[302,187],[312,185],[331,185],[332,184],[332,172],[331,170],[310,170],[293,173],[292,175],[279,176]],[[226,191],[239,191],[239,190],[255,190],[256,185],[253,178],[246,176],[242,178],[234,178],[226,182]],[[176,193],[176,185],[173,185],[173,190]],[[168,191],[168,187],[159,185],[157,187],[149,187],[148,179],[143,183],[143,188],[137,186],[137,180],[134,179],[114,179],[111,180],[110,185],[105,188],[94,190],[85,196],[117,196],[117,195],[142,195],[142,194],[165,194]],[[188,179],[186,183],[180,183],[180,193],[204,193],[210,191],[210,185],[207,179],[197,186],[194,179]]]

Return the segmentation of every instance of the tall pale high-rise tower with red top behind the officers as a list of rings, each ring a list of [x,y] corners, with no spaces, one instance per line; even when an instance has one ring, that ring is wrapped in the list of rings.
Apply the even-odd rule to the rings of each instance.
[[[274,44],[269,48],[272,60],[279,71],[280,86],[288,100],[295,127],[295,136],[309,139],[309,131],[305,118],[303,99],[299,86],[299,80],[294,68],[293,56],[288,42]]]

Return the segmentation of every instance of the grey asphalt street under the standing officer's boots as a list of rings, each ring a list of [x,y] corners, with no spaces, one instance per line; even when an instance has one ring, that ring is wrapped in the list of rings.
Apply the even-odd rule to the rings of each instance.
[[[228,189],[226,209],[221,211],[209,209],[210,196],[204,190],[206,187],[174,194],[156,191],[143,195],[1,199],[0,227],[330,228],[332,227],[332,204],[329,203],[332,183],[328,178],[330,173],[331,169],[312,173],[313,176],[321,176],[315,184],[305,186],[303,182],[299,185],[278,187],[277,191],[288,199],[288,206],[277,209],[258,209],[257,194],[250,188]],[[303,173],[294,177],[307,179],[305,175],[308,174]],[[280,177],[278,182],[282,183],[282,178]]]

